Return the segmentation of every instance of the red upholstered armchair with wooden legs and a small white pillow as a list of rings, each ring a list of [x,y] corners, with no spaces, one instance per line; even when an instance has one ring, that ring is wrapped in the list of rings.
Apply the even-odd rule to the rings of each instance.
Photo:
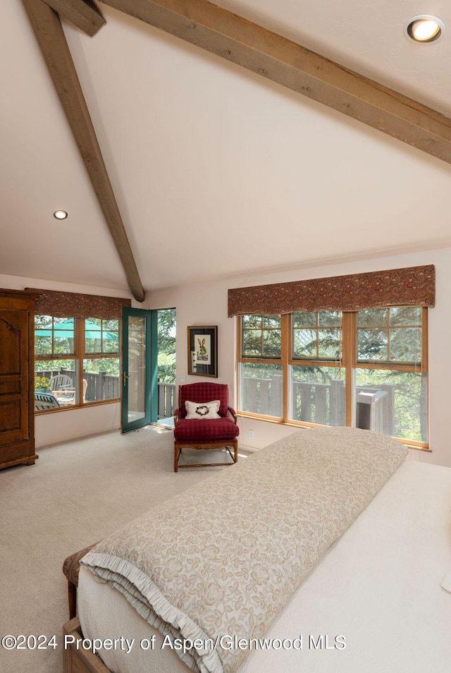
[[[191,403],[191,404],[190,404]],[[237,415],[228,406],[228,386],[222,383],[190,383],[178,389],[174,413],[174,472],[182,467],[233,465],[238,460],[240,428]],[[230,451],[233,447],[233,454]],[[179,465],[182,449],[226,449],[233,462]]]

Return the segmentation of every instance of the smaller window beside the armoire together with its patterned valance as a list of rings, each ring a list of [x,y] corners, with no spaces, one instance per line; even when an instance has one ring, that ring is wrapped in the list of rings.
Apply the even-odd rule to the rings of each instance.
[[[130,299],[34,291],[37,411],[119,399],[121,313]]]

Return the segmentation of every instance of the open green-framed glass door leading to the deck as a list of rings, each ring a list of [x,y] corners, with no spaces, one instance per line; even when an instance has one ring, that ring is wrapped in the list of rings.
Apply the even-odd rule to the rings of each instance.
[[[154,423],[158,413],[156,311],[124,308],[122,325],[121,432],[124,433]]]

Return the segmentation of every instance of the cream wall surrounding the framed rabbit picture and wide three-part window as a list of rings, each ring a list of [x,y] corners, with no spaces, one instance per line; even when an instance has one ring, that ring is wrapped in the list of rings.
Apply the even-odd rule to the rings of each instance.
[[[185,286],[148,293],[147,308],[173,308],[177,310],[177,383],[182,377],[186,382],[202,380],[187,375],[187,326],[218,325],[218,382],[227,383],[231,399],[236,404],[236,321],[227,317],[228,289],[283,281],[321,278],[340,274],[379,271],[417,265],[434,264],[436,272],[436,303],[429,310],[429,438],[432,453],[411,451],[413,459],[451,466],[451,439],[447,427],[450,400],[450,369],[445,354],[450,350],[451,306],[451,250],[393,255],[371,260],[340,262],[323,267],[290,269],[285,272],[234,278],[202,284],[202,288]],[[241,444],[258,449],[295,430],[288,426],[249,418],[240,419]],[[249,439],[248,430],[254,430]]]

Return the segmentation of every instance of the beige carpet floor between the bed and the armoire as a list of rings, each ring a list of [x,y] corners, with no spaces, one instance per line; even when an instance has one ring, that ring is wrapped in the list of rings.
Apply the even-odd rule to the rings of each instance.
[[[58,646],[0,646],[0,671],[61,673],[64,559],[221,469],[174,473],[173,433],[147,426],[40,449],[34,466],[1,470],[0,636],[55,634]]]

